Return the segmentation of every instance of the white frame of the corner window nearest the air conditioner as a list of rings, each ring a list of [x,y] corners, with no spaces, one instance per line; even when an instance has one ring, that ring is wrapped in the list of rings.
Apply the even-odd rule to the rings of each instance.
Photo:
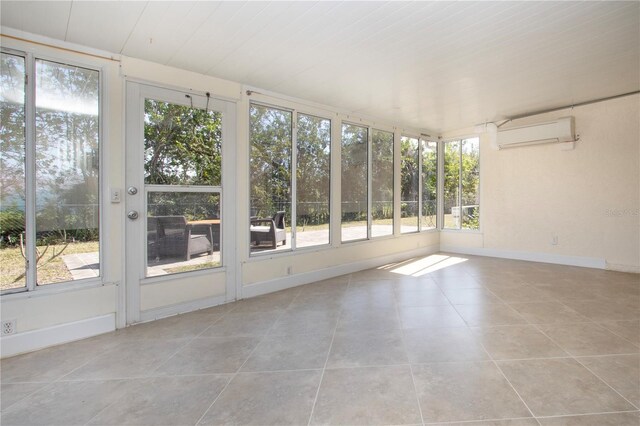
[[[439,225],[436,229],[438,229],[440,232],[461,232],[461,233],[468,233],[468,234],[481,234],[482,231],[482,223],[483,223],[483,216],[482,214],[480,215],[480,220],[478,221],[478,228],[477,229],[470,229],[470,228],[463,228],[462,227],[462,219],[460,220],[460,226],[458,228],[445,228],[444,224],[445,224],[445,220],[444,220],[444,180],[445,180],[445,175],[444,175],[444,150],[445,150],[445,144],[447,142],[459,142],[459,148],[458,148],[458,205],[461,206],[462,204],[462,141],[465,139],[478,139],[478,179],[480,180],[480,182],[478,183],[478,194],[480,196],[480,200],[482,203],[482,150],[480,149],[480,145],[481,145],[481,138],[479,134],[465,134],[465,135],[461,135],[461,136],[456,136],[456,137],[449,137],[446,139],[440,139],[438,141],[438,221],[439,221]],[[482,204],[480,204],[480,206],[482,206]],[[461,206],[462,207],[462,206]],[[461,212],[462,213],[462,210]]]

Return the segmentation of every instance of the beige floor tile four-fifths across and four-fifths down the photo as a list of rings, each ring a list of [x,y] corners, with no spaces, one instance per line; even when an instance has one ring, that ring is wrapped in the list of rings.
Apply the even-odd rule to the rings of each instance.
[[[552,358],[568,356],[532,325],[474,328],[480,342],[494,359]]]

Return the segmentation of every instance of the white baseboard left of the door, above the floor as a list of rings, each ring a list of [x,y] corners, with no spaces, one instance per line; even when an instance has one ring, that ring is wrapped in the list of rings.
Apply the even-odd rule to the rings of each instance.
[[[12,334],[0,339],[2,343],[0,345],[0,357],[7,358],[50,346],[86,339],[87,337],[108,333],[115,329],[116,316],[115,313],[112,313],[38,330],[26,331],[24,333]]]

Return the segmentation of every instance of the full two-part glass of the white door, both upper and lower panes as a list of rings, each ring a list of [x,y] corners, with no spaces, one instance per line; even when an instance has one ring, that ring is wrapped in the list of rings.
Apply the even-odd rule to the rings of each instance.
[[[145,99],[144,184],[146,276],[221,266],[222,113]]]

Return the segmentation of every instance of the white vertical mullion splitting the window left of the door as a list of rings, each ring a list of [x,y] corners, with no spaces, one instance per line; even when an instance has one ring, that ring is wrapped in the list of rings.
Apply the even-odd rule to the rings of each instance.
[[[25,57],[25,256],[27,258],[27,290],[35,290],[36,255],[36,73],[33,55]]]

